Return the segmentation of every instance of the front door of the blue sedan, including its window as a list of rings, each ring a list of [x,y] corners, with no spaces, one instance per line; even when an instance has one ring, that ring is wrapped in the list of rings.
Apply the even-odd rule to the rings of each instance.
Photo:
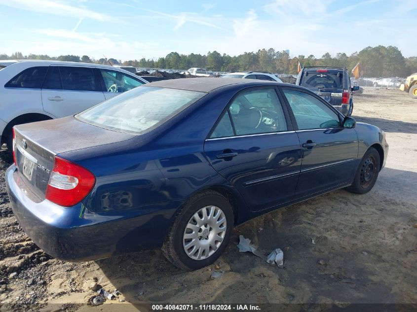
[[[358,136],[341,127],[331,105],[300,90],[283,88],[303,151],[296,198],[351,181],[358,157]]]

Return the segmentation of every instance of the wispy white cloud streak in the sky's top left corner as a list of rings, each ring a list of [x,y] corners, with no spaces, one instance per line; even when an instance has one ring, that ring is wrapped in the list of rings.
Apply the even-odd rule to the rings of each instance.
[[[60,1],[49,0],[0,0],[1,5],[23,9],[31,12],[46,13],[60,16],[75,17],[78,19],[89,18],[97,21],[118,21],[112,16],[101,14],[86,8],[80,8],[65,4]]]

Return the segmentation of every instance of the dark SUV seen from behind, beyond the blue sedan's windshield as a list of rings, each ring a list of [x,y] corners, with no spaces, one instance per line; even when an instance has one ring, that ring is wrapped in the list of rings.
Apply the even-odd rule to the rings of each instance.
[[[344,67],[304,67],[296,84],[303,86],[332,104],[343,115],[353,111],[353,91],[359,87],[350,86],[350,77]]]

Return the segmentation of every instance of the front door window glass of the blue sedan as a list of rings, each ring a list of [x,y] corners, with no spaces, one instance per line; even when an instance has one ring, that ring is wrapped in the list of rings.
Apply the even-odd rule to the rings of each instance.
[[[312,95],[295,90],[283,90],[294,113],[299,130],[326,129],[340,126],[338,115]]]

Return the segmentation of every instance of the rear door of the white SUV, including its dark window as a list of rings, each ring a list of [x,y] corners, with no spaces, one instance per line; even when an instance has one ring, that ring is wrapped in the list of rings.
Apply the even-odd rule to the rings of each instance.
[[[77,66],[50,66],[42,86],[43,110],[65,117],[105,100],[95,69]]]

